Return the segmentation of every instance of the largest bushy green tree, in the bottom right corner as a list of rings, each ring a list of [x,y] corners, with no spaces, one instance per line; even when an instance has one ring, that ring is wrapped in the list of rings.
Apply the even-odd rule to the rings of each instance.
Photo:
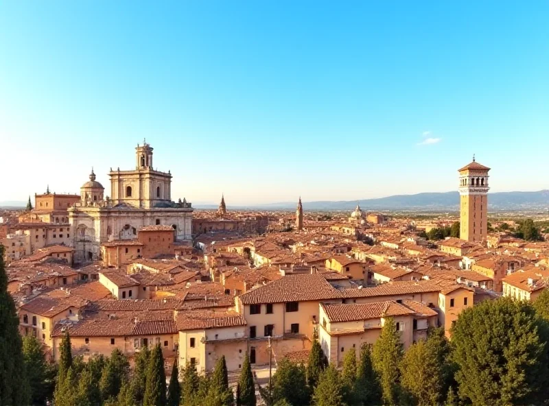
[[[452,331],[460,398],[473,405],[541,405],[547,396],[547,324],[527,302],[485,300]]]

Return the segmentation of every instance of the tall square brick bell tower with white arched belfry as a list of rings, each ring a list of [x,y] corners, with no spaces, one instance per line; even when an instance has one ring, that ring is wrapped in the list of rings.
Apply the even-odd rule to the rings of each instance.
[[[460,238],[482,242],[488,234],[488,171],[475,161],[459,169]]]

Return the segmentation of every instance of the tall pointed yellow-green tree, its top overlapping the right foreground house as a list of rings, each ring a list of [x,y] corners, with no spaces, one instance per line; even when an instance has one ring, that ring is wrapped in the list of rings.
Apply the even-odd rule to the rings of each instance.
[[[393,318],[385,318],[379,338],[373,346],[373,366],[382,388],[386,405],[397,405],[399,393],[399,364],[402,344]]]

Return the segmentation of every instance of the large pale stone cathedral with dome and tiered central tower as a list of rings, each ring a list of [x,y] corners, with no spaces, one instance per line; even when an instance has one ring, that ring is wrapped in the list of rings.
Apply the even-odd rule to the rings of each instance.
[[[172,201],[172,174],[152,167],[148,143],[135,148],[135,169],[110,169],[110,198],[95,180],[80,188],[80,202],[68,209],[76,262],[95,260],[106,241],[137,239],[145,226],[172,226],[176,241],[190,243],[193,208],[183,199]]]

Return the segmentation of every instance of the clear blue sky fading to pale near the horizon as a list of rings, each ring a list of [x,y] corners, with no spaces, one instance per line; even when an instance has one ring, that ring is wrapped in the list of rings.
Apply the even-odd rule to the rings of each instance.
[[[0,201],[146,138],[173,198],[548,188],[548,1],[2,1]]]

